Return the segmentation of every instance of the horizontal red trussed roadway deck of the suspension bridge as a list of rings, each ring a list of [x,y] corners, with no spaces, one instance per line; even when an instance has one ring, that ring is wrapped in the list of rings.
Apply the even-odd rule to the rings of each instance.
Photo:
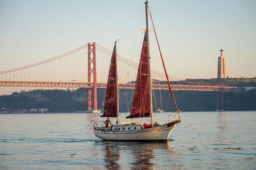
[[[56,88],[93,88],[93,83],[88,82],[29,82],[29,81],[0,81],[4,87],[56,87]],[[97,83],[97,88],[106,88],[107,83]],[[135,84],[118,84],[119,88],[132,89]],[[153,89],[168,90],[167,84],[152,84]],[[194,86],[194,85],[172,85],[172,90],[193,90],[193,91],[224,91],[224,92],[245,92],[244,87],[229,86]]]

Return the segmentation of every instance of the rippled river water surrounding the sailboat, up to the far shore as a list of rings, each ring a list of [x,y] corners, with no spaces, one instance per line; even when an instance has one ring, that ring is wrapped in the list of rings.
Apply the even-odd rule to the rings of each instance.
[[[184,112],[166,143],[102,141],[90,120],[97,114],[0,114],[0,169],[256,169],[256,111]]]

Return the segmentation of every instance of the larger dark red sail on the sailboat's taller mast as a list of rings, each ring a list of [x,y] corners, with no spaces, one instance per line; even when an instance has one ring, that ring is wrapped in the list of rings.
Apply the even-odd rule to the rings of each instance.
[[[147,51],[147,32],[145,32],[141,50],[140,64],[138,66],[138,74],[133,96],[131,114],[126,118],[148,117],[150,113],[149,108],[149,64]]]

